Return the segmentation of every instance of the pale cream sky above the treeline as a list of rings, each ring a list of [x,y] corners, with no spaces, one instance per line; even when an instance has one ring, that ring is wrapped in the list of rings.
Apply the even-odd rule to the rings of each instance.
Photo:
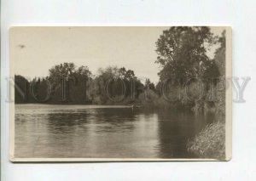
[[[87,65],[93,74],[109,65],[125,66],[137,77],[158,82],[155,42],[169,27],[15,27],[10,31],[10,58],[15,74],[48,76],[64,62]],[[224,27],[212,27],[220,35]],[[215,48],[209,50],[212,58]]]

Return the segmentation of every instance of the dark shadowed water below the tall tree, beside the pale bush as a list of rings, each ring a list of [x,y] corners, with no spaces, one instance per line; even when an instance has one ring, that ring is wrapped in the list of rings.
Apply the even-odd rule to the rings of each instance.
[[[192,112],[159,112],[159,139],[161,158],[195,157],[187,151],[188,139],[193,139],[214,116],[195,116]]]

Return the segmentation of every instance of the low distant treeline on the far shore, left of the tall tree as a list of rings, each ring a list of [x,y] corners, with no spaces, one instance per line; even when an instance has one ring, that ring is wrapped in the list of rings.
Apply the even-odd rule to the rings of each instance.
[[[134,72],[117,67],[100,69],[92,76],[87,66],[55,65],[49,76],[28,81],[15,76],[15,103],[127,105],[137,102],[149,80],[143,84]]]

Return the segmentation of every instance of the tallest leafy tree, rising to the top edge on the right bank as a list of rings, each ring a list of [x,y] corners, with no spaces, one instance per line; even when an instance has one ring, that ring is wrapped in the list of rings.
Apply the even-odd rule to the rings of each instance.
[[[189,98],[193,99],[188,98],[188,93],[183,88],[179,101],[189,107],[200,105],[202,110],[210,88],[209,80],[219,76],[218,65],[207,56],[207,48],[216,43],[216,38],[206,26],[179,26],[163,31],[156,42],[158,57],[155,62],[161,66],[157,92],[160,92],[160,85],[165,85],[166,82],[171,83],[172,89],[186,85],[189,88],[185,89],[192,93]],[[203,83],[203,91],[197,82]],[[196,84],[199,86],[195,86]],[[167,96],[175,95],[172,94],[170,92]]]

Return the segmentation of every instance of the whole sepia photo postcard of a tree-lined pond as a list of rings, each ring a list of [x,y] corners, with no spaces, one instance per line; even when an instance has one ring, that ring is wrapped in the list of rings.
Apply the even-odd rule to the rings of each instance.
[[[228,161],[231,28],[9,30],[10,161]]]

